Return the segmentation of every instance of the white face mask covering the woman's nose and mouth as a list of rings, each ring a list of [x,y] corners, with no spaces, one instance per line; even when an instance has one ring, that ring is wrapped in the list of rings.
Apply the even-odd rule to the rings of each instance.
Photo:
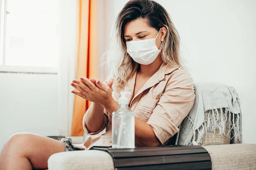
[[[157,34],[157,37],[160,33],[160,30]],[[155,41],[157,37],[151,38],[148,40],[126,42],[127,53],[137,63],[143,64],[143,65],[151,64],[157,58],[163,45],[163,39],[162,39],[161,47],[158,50],[156,41]]]

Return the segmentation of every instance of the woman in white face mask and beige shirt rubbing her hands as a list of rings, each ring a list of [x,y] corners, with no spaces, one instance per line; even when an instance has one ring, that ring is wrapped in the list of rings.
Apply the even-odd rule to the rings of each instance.
[[[180,65],[179,36],[167,11],[151,0],[131,0],[119,13],[105,60],[108,82],[86,77],[71,83],[72,93],[92,103],[84,115],[88,136],[82,145],[30,133],[13,135],[3,147],[0,169],[45,169],[54,153],[111,146],[111,115],[119,107],[120,91],[128,91],[135,113],[136,146],[166,144],[194,103],[191,76]],[[113,88],[112,88],[113,87]],[[102,136],[93,136],[104,130]]]

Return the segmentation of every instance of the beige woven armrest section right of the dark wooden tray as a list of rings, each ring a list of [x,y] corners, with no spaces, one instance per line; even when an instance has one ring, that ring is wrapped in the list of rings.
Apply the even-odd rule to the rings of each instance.
[[[203,146],[211,156],[212,170],[256,170],[256,144]]]

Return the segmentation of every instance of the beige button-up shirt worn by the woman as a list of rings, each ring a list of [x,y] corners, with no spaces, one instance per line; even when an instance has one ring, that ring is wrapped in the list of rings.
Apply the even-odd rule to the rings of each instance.
[[[194,83],[190,74],[181,67],[162,63],[158,71],[133,96],[137,72],[128,80],[124,89],[114,88],[112,96],[118,102],[120,92],[130,92],[129,107],[135,117],[151,125],[159,141],[164,144],[179,131],[178,126],[188,115],[195,100]],[[111,115],[104,109],[105,121],[97,132],[88,134],[84,146],[111,146]],[[106,128],[106,133],[97,135]],[[136,128],[136,127],[135,127]]]

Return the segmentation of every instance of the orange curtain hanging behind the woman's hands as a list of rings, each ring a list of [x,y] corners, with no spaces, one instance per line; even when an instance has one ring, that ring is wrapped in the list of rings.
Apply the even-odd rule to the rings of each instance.
[[[76,78],[98,78],[97,0],[79,0],[79,44]],[[89,101],[75,96],[71,136],[83,136],[82,120]]]

